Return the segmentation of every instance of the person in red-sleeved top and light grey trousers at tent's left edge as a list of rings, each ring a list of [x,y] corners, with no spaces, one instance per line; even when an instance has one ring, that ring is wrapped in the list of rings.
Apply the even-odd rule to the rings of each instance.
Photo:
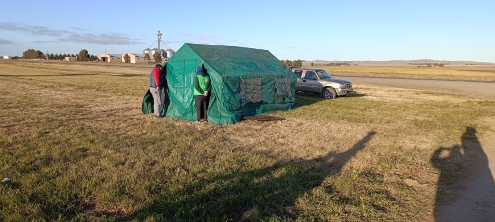
[[[164,76],[161,75],[161,64],[156,64],[155,68],[149,74],[149,92],[153,96],[153,112],[154,116],[161,118],[161,111],[163,111],[163,86],[165,83]]]

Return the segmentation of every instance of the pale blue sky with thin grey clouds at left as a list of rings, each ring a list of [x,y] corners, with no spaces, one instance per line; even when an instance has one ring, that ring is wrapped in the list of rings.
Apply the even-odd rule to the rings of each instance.
[[[0,53],[142,53],[157,31],[185,42],[269,50],[290,60],[495,62],[493,0],[8,0]]]

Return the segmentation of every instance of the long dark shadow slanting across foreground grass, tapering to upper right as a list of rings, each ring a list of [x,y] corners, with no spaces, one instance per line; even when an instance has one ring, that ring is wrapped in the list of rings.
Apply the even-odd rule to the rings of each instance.
[[[182,189],[159,194],[162,196],[155,198],[153,204],[128,217],[139,221],[148,217],[170,221],[259,221],[274,215],[297,218],[287,212],[296,205],[297,198],[310,193],[328,176],[340,173],[375,134],[369,132],[341,153],[328,152],[311,160],[279,162],[250,171],[187,180]]]

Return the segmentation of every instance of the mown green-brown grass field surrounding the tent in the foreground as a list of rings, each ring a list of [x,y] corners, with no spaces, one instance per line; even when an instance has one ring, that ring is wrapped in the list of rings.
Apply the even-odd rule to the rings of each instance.
[[[360,84],[279,121],[156,119],[150,70],[0,60],[0,221],[434,221],[462,173],[435,151],[495,133],[494,101]]]

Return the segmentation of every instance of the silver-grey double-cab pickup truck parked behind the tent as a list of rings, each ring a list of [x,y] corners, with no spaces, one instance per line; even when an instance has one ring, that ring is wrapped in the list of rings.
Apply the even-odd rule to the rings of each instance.
[[[296,93],[318,93],[325,99],[335,99],[337,96],[347,96],[353,93],[352,83],[344,79],[330,76],[325,70],[302,67],[292,67],[297,75]]]

